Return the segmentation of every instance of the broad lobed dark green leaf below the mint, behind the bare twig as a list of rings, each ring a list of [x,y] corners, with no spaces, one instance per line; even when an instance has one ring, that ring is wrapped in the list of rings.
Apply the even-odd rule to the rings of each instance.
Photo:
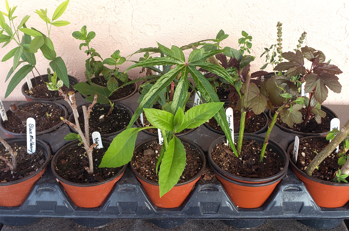
[[[90,95],[86,98],[86,100],[92,102],[95,94],[97,93],[97,102],[101,104],[109,103],[108,97],[111,95],[111,92],[107,87],[99,86],[95,83],[91,83],[91,85],[81,82],[74,85],[74,89],[79,91],[83,95]]]

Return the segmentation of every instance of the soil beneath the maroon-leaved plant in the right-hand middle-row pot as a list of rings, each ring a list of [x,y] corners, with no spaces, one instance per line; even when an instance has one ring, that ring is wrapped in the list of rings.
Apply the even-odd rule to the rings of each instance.
[[[305,119],[305,115],[306,115],[306,108],[302,108],[299,110],[302,115],[303,115],[303,121]],[[272,116],[274,116],[274,111],[272,111]],[[276,119],[276,122],[278,124],[280,124],[281,126],[283,126],[284,128],[288,128],[291,129],[293,131],[298,131],[298,132],[305,132],[305,133],[322,133],[322,132],[328,132],[330,129],[330,123],[331,120],[333,119],[333,117],[329,114],[326,113],[326,116],[324,118],[321,118],[321,124],[318,124],[315,121],[315,116],[312,113],[311,117],[309,118],[309,121],[307,122],[306,126],[305,126],[305,130],[302,131],[302,123],[300,124],[294,124],[292,128],[290,128],[287,124],[283,123],[280,119],[280,117],[278,117]]]

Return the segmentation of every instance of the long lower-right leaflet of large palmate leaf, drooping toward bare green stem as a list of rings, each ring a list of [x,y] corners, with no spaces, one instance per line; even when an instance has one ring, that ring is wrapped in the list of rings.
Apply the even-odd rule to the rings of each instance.
[[[206,100],[206,102],[220,102],[215,90],[213,89],[213,86],[210,84],[207,78],[205,78],[205,76],[201,74],[200,71],[198,71],[194,67],[189,66],[189,72],[194,79],[196,88],[200,91],[201,96]],[[217,123],[221,126],[224,134],[227,136],[229,145],[232,148],[234,154],[238,156],[233,140],[230,135],[231,133],[227,121],[227,116],[225,115],[225,110],[223,106],[218,111],[218,113],[214,115],[214,118],[216,119]]]

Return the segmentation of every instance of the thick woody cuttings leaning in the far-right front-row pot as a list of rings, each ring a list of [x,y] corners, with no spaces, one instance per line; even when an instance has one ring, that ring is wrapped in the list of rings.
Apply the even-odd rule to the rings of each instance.
[[[325,158],[329,156],[335,148],[337,148],[337,146],[348,136],[348,134],[349,134],[349,120],[346,122],[346,124],[344,124],[344,126],[341,128],[338,134],[336,134],[336,136],[331,140],[331,142],[324,149],[322,149],[322,151],[319,154],[317,154],[314,157],[314,159],[307,166],[305,173],[311,176],[315,168],[317,168],[319,164],[322,161],[324,161]],[[347,168],[348,168],[348,164],[346,162],[346,164],[342,166],[342,169],[344,170],[344,172],[347,172],[346,170]]]

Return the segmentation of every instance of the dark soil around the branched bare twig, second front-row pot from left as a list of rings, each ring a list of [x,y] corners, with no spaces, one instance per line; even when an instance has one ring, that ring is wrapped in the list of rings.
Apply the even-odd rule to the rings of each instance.
[[[93,149],[94,175],[90,175],[85,167],[89,167],[89,161],[83,146],[71,147],[61,153],[57,159],[55,170],[65,180],[74,183],[88,184],[109,179],[118,174],[123,166],[118,168],[98,168],[109,144],[103,143],[103,148]]]

